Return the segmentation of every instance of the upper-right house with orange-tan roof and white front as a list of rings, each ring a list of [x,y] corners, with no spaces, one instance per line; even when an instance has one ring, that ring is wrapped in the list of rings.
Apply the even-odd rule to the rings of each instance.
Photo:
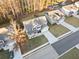
[[[62,7],[62,11],[67,16],[72,16],[73,14],[77,14],[78,8],[75,6],[75,4],[70,4]]]

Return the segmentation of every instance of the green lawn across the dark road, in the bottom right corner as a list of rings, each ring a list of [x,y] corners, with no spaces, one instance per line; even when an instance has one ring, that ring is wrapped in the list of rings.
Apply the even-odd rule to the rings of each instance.
[[[68,53],[61,56],[59,59],[79,59],[79,50],[77,48],[74,48]]]

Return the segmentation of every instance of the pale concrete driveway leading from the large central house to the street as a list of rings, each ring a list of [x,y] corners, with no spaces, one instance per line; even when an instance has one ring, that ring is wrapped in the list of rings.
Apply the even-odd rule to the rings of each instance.
[[[58,41],[58,39],[49,31],[43,32],[43,35],[48,39],[50,44]]]

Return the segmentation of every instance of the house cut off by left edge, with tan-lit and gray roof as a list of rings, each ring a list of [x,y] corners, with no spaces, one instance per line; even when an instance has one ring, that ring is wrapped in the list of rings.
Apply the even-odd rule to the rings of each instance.
[[[14,44],[16,43],[14,40],[11,40],[8,35],[7,28],[0,28],[0,50],[11,50],[14,48]]]

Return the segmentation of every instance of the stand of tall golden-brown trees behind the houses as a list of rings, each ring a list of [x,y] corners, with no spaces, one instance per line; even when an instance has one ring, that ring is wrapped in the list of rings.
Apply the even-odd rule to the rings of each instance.
[[[1,0],[0,1],[0,13],[4,18],[8,15],[13,15],[18,19],[19,15],[25,15],[26,13],[42,11],[49,5],[54,5],[64,0]]]

